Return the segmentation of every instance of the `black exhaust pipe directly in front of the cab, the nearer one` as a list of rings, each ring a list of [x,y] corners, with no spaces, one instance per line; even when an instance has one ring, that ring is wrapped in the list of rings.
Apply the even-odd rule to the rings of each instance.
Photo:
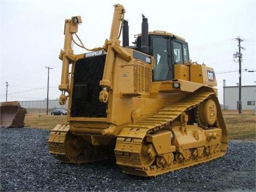
[[[148,19],[142,14],[141,24],[141,46],[140,51],[143,53],[149,53],[148,46]]]

